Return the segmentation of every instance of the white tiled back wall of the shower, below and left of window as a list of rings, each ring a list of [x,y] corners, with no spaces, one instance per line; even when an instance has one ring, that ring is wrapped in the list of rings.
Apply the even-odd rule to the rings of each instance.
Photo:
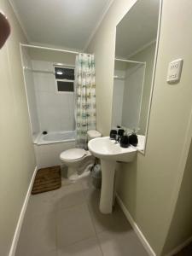
[[[35,70],[54,72],[51,62],[32,61]],[[41,131],[73,131],[74,96],[73,93],[56,92],[55,75],[33,73],[38,106],[38,119]]]

